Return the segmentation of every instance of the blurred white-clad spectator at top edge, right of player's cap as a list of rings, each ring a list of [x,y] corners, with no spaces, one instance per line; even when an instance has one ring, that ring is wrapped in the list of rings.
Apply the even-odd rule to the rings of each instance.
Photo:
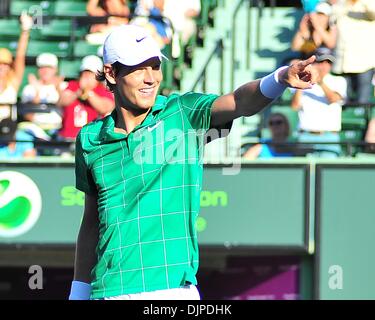
[[[172,22],[173,29],[180,36],[183,45],[196,34],[195,18],[200,12],[200,0],[165,0],[164,15]]]

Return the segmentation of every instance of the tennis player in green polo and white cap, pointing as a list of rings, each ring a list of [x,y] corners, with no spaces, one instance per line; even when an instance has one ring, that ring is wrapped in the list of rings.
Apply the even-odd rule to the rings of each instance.
[[[76,187],[85,193],[70,299],[198,300],[202,136],[315,81],[311,57],[223,96],[158,95],[163,55],[140,27],[104,43],[111,115],[80,131]]]

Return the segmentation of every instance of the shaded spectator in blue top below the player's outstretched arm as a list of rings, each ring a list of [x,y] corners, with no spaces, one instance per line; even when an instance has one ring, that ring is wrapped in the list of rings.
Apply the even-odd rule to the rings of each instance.
[[[271,139],[249,148],[243,155],[247,160],[257,158],[291,157],[293,153],[287,145],[273,145],[269,142],[287,142],[290,135],[288,118],[282,113],[272,113],[268,119],[268,127],[271,131]]]

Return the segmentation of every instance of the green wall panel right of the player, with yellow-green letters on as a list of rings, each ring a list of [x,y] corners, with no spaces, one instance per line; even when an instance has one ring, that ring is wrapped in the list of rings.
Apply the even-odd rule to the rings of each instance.
[[[200,244],[303,246],[304,166],[243,166],[237,175],[206,168],[198,219]]]

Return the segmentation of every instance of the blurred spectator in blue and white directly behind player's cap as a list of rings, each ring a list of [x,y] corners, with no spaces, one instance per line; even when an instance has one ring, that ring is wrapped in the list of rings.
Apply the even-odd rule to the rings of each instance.
[[[148,29],[161,49],[171,42],[172,36],[170,24],[166,19],[163,19],[164,8],[164,0],[153,0],[150,3],[140,2],[136,12],[142,13],[142,16],[137,16],[131,21],[131,24]]]

